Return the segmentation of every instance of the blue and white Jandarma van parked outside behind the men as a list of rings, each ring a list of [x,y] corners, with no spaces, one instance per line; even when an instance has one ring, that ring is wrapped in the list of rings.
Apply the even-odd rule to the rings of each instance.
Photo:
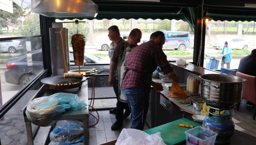
[[[163,49],[185,50],[190,48],[190,33],[184,31],[162,31],[165,34]],[[142,43],[149,41],[150,38],[143,40]]]

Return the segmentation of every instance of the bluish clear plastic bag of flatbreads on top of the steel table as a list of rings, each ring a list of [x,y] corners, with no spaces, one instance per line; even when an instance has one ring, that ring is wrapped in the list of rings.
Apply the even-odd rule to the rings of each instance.
[[[26,116],[33,124],[50,126],[68,109],[81,109],[87,105],[75,94],[56,93],[36,98],[27,105]]]

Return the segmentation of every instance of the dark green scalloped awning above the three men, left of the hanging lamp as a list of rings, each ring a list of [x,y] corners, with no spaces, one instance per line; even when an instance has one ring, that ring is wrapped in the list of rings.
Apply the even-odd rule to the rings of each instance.
[[[195,15],[193,7],[171,7],[171,6],[143,6],[143,5],[99,5],[99,13],[96,18],[77,18],[77,19],[175,19],[183,20],[189,23],[194,32],[193,23],[195,23]],[[190,13],[191,12],[191,13]],[[75,18],[58,18],[75,19]]]

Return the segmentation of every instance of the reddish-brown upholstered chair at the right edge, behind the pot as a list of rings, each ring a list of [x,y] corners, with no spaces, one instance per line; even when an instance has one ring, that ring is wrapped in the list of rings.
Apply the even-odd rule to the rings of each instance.
[[[253,112],[253,120],[254,120],[255,114],[256,114],[256,77],[246,75],[238,71],[236,72],[236,76],[247,79],[247,81],[244,82],[242,98],[255,104],[254,112]]]

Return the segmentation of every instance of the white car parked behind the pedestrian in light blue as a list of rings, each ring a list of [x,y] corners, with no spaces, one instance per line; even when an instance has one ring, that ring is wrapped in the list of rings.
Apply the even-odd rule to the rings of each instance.
[[[224,42],[225,40],[216,41],[212,44],[212,47],[216,49],[222,49],[224,46]],[[241,38],[234,38],[228,40],[228,46],[232,49],[247,49],[250,46],[250,42],[245,41]]]

